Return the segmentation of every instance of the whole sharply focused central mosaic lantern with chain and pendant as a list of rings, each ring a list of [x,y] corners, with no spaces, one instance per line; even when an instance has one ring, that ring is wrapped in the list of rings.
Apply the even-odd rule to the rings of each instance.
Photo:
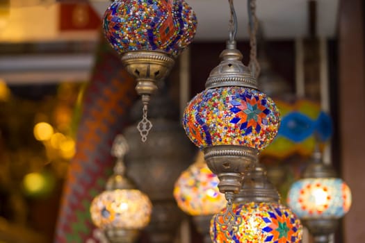
[[[254,1],[248,1],[249,4]],[[279,111],[270,97],[257,90],[258,74],[252,31],[251,69],[242,63],[236,49],[237,17],[229,0],[231,20],[227,48],[220,65],[206,81],[206,89],[186,107],[183,125],[190,140],[204,151],[206,163],[220,179],[220,192],[227,199],[225,224],[237,230],[232,212],[234,194],[241,189],[243,174],[252,169],[259,151],[273,141],[279,126]],[[254,8],[249,8],[250,15]]]

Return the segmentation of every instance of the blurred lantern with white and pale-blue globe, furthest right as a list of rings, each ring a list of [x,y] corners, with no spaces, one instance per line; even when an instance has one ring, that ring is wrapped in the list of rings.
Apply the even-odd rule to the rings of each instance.
[[[332,167],[323,164],[317,150],[303,178],[291,185],[287,201],[315,242],[330,242],[339,219],[350,210],[351,192]]]

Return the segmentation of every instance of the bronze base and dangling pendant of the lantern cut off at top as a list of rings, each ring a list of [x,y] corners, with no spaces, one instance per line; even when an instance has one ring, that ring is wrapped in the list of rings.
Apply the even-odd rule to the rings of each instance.
[[[145,104],[143,120],[138,124],[138,131],[140,131],[142,141],[145,142],[148,132],[152,128],[151,121],[147,119],[149,99],[157,90],[157,81],[168,76],[175,60],[167,53],[160,51],[129,51],[122,56],[122,63],[129,74],[136,77],[136,91],[142,96]]]

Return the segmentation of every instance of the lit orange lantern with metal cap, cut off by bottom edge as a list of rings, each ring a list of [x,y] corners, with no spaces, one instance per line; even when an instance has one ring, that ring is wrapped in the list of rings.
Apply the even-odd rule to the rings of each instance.
[[[227,208],[211,220],[211,240],[225,242],[301,242],[300,220],[289,208],[279,203],[279,194],[268,182],[266,172],[257,165],[243,180],[236,195],[232,214],[235,226],[228,229],[224,221]]]

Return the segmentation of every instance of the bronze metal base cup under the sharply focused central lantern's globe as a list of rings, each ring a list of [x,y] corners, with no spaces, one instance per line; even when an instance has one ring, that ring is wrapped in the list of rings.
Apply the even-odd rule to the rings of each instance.
[[[204,149],[209,169],[218,176],[220,192],[237,193],[241,190],[243,174],[253,168],[257,150],[246,146],[218,145]]]

